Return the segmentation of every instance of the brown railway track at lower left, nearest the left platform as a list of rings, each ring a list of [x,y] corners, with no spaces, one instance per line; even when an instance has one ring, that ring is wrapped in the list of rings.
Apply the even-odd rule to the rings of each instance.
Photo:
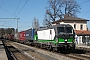
[[[14,46],[8,46],[8,49],[11,52],[11,55],[13,56],[14,60],[31,60]]]

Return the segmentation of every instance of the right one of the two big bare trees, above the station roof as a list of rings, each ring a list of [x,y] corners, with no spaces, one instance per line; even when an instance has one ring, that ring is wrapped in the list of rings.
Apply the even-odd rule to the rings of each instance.
[[[64,8],[64,15],[68,14],[68,16],[76,16],[77,12],[80,12],[79,4],[74,0],[63,0],[63,8]]]

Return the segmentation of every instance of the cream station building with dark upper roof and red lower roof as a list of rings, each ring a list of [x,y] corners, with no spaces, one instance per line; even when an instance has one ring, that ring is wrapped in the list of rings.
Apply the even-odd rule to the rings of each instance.
[[[88,30],[88,27],[87,27],[88,21],[89,20],[87,19],[70,16],[70,17],[65,17],[63,19],[52,22],[52,25],[56,25],[58,23],[70,24],[77,35],[78,44],[87,44],[88,42],[90,42],[90,31]]]

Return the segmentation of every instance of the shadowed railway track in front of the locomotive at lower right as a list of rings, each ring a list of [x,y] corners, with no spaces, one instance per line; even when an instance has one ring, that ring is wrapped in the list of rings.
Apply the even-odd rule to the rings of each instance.
[[[78,50],[78,49],[75,49],[75,50],[67,50],[67,51],[64,51],[64,52],[53,52],[53,53],[56,53],[56,54],[60,54],[60,55],[63,55],[63,56],[66,56],[66,57],[70,57],[72,59],[75,59],[75,60],[90,60],[90,53],[88,53],[88,51],[84,51],[84,50]]]

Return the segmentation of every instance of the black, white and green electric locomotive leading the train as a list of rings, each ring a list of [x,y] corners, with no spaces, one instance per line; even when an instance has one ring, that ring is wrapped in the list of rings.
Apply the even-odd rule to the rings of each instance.
[[[69,24],[57,24],[50,28],[40,28],[34,36],[34,43],[41,48],[53,49],[54,51],[75,49],[75,33]]]

